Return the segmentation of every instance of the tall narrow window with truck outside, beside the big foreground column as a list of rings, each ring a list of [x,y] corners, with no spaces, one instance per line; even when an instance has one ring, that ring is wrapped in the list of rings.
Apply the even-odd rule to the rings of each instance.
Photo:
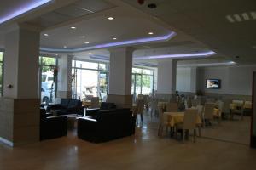
[[[57,83],[57,59],[52,57],[39,57],[41,102],[45,105],[55,103]]]

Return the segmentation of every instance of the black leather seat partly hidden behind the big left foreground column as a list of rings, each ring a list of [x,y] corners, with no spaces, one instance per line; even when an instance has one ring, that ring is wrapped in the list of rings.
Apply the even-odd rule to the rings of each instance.
[[[67,136],[67,117],[49,116],[45,109],[40,109],[40,140]]]

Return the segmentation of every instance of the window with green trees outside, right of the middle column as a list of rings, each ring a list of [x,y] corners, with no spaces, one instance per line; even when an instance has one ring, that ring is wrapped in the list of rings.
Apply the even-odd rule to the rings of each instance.
[[[132,68],[131,94],[154,93],[154,71],[143,68]]]

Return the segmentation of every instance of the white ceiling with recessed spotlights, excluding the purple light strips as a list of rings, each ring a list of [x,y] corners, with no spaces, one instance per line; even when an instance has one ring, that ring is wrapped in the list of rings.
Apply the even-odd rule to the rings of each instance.
[[[6,3],[6,8],[14,3],[6,2],[9,2]],[[22,3],[25,4],[26,1]],[[148,3],[156,3],[158,7],[149,9]],[[256,61],[253,59],[256,50],[252,48],[256,44],[256,20],[230,23],[225,16],[255,11],[254,3],[253,0],[243,3],[238,0],[195,0],[193,3],[185,0],[146,0],[143,5],[139,5],[137,0],[56,0],[47,9],[38,9],[40,11],[34,17],[27,14],[20,17],[20,20],[42,27],[43,48],[81,48],[141,37],[163,36],[175,31],[177,36],[169,41],[135,45],[137,50],[134,55],[188,54],[213,50],[218,55],[211,58],[217,61],[223,59],[246,63]],[[5,8],[5,3],[1,8]],[[108,16],[115,19],[107,20]],[[72,30],[71,26],[76,26],[77,29]],[[0,48],[4,47],[1,30],[0,26]],[[153,31],[154,35],[148,35],[148,31]],[[45,33],[49,37],[45,37]],[[118,39],[113,40],[113,37]],[[88,59],[88,53],[75,55]],[[96,50],[93,53],[109,55],[108,50]],[[236,55],[241,58],[234,59]],[[157,60],[145,59],[141,62],[155,63]]]

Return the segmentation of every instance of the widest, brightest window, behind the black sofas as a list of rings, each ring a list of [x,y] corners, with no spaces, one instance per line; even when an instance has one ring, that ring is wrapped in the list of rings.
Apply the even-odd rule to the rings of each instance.
[[[73,99],[102,101],[108,94],[108,64],[73,60]]]

